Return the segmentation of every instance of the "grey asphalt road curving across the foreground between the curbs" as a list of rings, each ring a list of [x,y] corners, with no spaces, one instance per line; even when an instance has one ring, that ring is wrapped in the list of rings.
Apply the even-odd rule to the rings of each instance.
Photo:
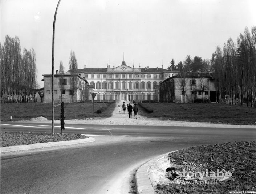
[[[155,156],[203,144],[256,140],[253,128],[65,126],[65,133],[104,136],[95,136],[95,142],[79,146],[1,155],[1,194],[105,194],[115,187],[119,193],[117,178],[129,180],[136,168]],[[1,122],[1,130],[50,132],[50,124]]]

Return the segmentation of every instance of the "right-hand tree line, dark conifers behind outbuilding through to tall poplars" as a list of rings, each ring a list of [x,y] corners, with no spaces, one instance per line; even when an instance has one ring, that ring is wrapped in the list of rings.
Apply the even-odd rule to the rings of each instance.
[[[219,103],[226,103],[229,96],[229,104],[236,105],[239,99],[240,105],[246,102],[252,107],[254,102],[256,107],[256,27],[246,27],[236,42],[229,38],[222,48],[218,45],[211,59],[187,55],[178,64],[171,59],[168,69],[178,70],[183,80],[187,72],[214,73]],[[180,88],[184,90],[184,81]]]

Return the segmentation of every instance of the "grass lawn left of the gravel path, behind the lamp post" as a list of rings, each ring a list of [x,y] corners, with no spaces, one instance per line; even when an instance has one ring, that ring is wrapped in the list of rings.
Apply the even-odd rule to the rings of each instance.
[[[36,117],[45,117],[49,120],[52,118],[52,103],[9,103],[1,104],[1,121],[30,120]],[[97,110],[102,111],[101,114]],[[76,118],[93,118],[93,117],[111,117],[115,109],[114,103],[64,103],[65,120]],[[60,120],[60,103],[55,103],[54,108],[55,120]]]

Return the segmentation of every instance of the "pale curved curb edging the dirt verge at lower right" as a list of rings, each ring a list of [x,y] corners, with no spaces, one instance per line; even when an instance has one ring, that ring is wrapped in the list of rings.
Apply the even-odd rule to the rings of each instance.
[[[164,156],[176,151],[177,150],[157,156],[149,160],[147,163],[143,164],[141,167],[139,167],[139,169],[135,173],[137,194],[155,194],[151,181],[149,179],[149,166],[154,164],[156,161],[160,160]]]

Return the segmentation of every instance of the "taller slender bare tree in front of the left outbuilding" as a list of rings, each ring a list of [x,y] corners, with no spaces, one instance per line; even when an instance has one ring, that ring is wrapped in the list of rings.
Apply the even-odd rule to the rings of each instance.
[[[69,71],[71,74],[70,78],[70,90],[72,91],[72,102],[74,102],[74,94],[77,91],[77,85],[78,85],[78,78],[77,78],[77,59],[74,51],[70,51],[70,57],[69,57]]]

